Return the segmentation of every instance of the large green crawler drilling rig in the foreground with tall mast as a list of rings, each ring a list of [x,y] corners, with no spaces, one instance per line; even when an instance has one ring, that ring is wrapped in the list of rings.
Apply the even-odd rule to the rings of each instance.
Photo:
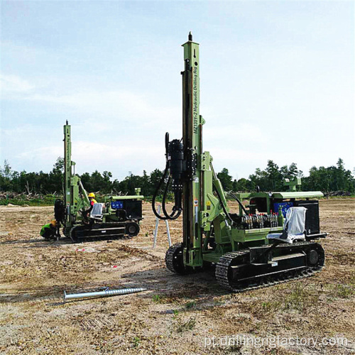
[[[317,197],[322,192],[298,192],[300,179],[286,182],[286,192],[258,189],[234,194],[223,190],[212,156],[202,150],[205,121],[200,116],[199,44],[192,41],[190,33],[182,47],[182,139],[169,141],[169,134],[165,134],[165,172],[152,202],[160,219],[177,219],[182,214],[182,243],[168,249],[167,268],[186,275],[212,266],[217,283],[232,292],[320,271],[324,249],[315,240],[327,235],[320,232]],[[160,215],[155,197],[164,182]],[[175,204],[168,212],[165,200],[170,184]],[[236,212],[228,207],[228,198],[237,202]]]

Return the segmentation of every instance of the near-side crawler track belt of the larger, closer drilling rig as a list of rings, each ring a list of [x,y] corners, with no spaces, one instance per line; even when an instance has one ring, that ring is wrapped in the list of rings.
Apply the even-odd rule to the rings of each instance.
[[[265,277],[258,278],[258,280],[250,280],[250,285],[243,288],[235,288],[235,281],[231,282],[228,279],[228,270],[231,262],[235,258],[241,258],[242,256],[246,256],[249,254],[249,250],[243,251],[232,251],[231,253],[226,253],[221,258],[219,258],[219,262],[216,265],[216,279],[219,285],[222,287],[231,290],[234,293],[240,293],[247,290],[255,290],[256,288],[265,288],[271,285],[277,285],[279,283],[285,283],[290,280],[297,280],[300,278],[307,278],[315,273],[319,273],[324,267],[324,250],[322,246],[315,242],[298,242],[292,244],[292,246],[316,246],[318,249],[320,260],[318,261],[318,266],[309,267],[303,271],[284,271],[276,276],[276,278],[271,278],[270,275],[266,275]],[[291,247],[292,247],[291,246]],[[290,244],[280,244],[277,248],[290,248]]]

